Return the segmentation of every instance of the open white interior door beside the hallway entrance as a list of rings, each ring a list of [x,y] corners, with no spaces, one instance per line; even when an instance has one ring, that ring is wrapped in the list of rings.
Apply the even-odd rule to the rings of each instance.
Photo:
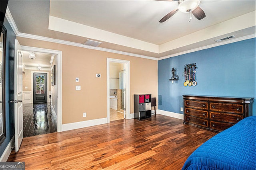
[[[15,151],[18,152],[23,139],[23,109],[22,109],[22,48],[15,39],[14,55],[14,128]]]

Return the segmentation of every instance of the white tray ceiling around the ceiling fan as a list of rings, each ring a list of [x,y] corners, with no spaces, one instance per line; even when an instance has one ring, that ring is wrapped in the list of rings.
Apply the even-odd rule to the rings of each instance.
[[[255,0],[201,0],[206,18],[177,12],[177,2],[154,0],[9,0],[20,33],[163,57],[212,45],[214,39],[255,34]],[[22,10],[21,10],[22,9]],[[50,19],[49,19],[50,18]]]

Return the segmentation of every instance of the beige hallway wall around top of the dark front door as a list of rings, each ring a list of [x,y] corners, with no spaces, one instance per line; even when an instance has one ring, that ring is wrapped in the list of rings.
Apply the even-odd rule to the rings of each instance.
[[[31,89],[31,73],[36,72],[36,70],[27,70],[25,69],[25,72],[23,72],[22,75],[22,88],[23,91],[32,91]],[[48,91],[51,91],[51,71],[44,71],[40,70],[38,72],[48,72]],[[25,87],[28,87],[27,89]]]

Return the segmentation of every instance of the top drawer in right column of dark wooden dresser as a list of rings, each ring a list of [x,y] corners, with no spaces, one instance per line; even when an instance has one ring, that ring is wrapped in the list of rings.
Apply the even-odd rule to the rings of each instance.
[[[244,105],[210,102],[210,110],[243,114],[244,113]]]

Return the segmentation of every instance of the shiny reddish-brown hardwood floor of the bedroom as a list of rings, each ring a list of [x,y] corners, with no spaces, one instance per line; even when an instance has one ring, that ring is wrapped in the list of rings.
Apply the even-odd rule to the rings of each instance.
[[[8,161],[26,169],[181,169],[186,158],[216,133],[164,115],[23,139]]]

